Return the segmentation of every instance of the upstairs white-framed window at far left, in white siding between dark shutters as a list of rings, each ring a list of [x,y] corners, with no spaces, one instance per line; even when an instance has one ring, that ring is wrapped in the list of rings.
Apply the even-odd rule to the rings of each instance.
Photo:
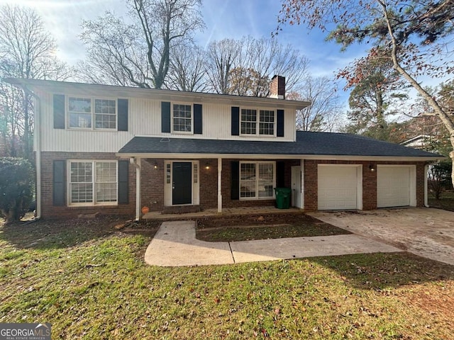
[[[70,129],[116,130],[116,99],[70,96],[67,120]]]

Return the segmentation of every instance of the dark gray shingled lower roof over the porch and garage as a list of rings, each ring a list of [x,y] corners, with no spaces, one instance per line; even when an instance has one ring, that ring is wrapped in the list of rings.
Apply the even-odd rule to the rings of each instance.
[[[374,157],[438,157],[367,137],[333,132],[297,132],[297,142],[202,140],[173,137],[133,137],[119,154],[276,154]]]

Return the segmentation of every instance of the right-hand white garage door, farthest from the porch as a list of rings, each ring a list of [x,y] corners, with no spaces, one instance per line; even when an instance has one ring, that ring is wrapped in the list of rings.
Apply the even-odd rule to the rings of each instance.
[[[377,207],[410,205],[410,166],[377,166]]]

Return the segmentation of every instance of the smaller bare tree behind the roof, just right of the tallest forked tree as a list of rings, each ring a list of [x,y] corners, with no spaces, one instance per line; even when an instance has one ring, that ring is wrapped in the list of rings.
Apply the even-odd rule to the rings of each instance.
[[[204,92],[208,88],[205,73],[205,53],[196,46],[181,46],[170,58],[168,89]]]

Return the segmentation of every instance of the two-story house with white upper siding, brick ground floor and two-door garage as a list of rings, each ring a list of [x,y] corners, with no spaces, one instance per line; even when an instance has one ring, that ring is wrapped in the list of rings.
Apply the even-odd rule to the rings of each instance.
[[[442,157],[358,135],[297,132],[309,105],[275,98],[8,79],[35,97],[38,216],[273,205],[422,206]]]

